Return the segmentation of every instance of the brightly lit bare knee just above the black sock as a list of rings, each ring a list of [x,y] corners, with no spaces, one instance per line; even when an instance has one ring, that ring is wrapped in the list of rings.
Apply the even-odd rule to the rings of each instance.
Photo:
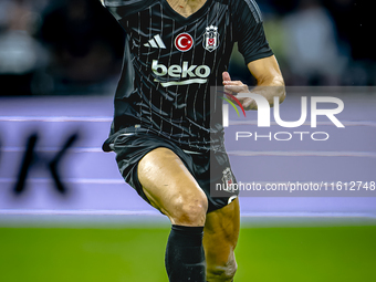
[[[179,197],[174,200],[174,211],[170,212],[175,224],[180,226],[203,226],[208,210],[206,196]]]

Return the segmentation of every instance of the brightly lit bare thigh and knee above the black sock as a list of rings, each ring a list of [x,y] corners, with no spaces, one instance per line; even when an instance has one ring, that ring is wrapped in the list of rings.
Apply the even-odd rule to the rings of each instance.
[[[137,174],[150,203],[168,216],[173,224],[196,226],[195,217],[200,217],[203,226],[207,197],[173,150],[160,147],[149,152],[138,163]]]

